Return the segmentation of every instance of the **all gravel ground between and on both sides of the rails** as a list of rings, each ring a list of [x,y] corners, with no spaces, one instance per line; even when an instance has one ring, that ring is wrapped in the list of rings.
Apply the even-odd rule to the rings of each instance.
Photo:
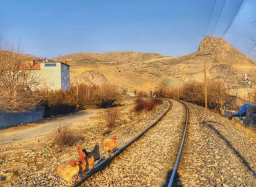
[[[184,130],[184,106],[175,100],[172,104],[156,126],[83,186],[166,186]],[[187,105],[189,126],[176,186],[256,186],[255,141],[234,127],[233,122],[204,108]],[[0,186],[67,186],[55,170],[57,165],[77,159],[77,146],[90,151],[96,141],[116,135],[120,148],[158,119],[167,106],[165,101],[155,111],[138,115],[131,111],[132,105],[121,109],[117,127],[106,136],[102,135],[102,116],[85,119],[76,124],[85,138],[71,148],[59,150],[46,135],[1,145],[0,175],[13,180],[0,181]],[[101,155],[108,157],[101,144],[99,148]],[[14,170],[15,164],[22,169]]]

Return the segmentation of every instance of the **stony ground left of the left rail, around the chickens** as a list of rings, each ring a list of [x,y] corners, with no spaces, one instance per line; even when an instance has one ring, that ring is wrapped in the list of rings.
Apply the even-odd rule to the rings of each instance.
[[[106,130],[105,119],[102,116],[95,116],[91,120],[86,119],[75,124],[75,127],[80,127],[79,130],[85,138],[70,148],[59,149],[53,146],[50,135],[30,137],[4,144],[0,148],[0,175],[7,176],[10,180],[0,181],[0,186],[67,186],[67,182],[56,175],[55,170],[57,165],[77,159],[77,146],[91,151],[95,143],[100,143],[102,138],[111,138],[116,135],[118,147],[121,147],[158,119],[168,106],[165,101],[153,111],[135,114],[132,111],[133,101],[131,100],[130,103],[128,106],[119,107],[120,119],[117,127],[109,135],[102,135]],[[40,146],[42,146],[41,149]],[[105,154],[101,143],[99,150],[102,156],[109,155]],[[15,165],[21,169],[15,170]]]

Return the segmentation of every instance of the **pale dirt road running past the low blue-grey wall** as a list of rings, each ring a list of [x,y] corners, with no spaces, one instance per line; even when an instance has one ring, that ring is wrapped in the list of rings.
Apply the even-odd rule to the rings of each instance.
[[[0,131],[0,144],[10,143],[13,140],[28,138],[29,136],[44,135],[52,132],[58,125],[67,125],[78,122],[80,119],[86,119],[96,116],[99,110],[79,111],[77,114],[58,117],[52,120],[44,120],[32,126],[11,127],[7,130]]]

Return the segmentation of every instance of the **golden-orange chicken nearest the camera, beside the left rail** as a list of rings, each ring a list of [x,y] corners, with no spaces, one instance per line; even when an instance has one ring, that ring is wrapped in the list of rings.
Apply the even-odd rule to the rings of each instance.
[[[81,151],[80,146],[78,147],[78,160],[69,161],[62,166],[56,167],[56,173],[67,180],[68,186],[73,186],[72,178],[75,175],[78,175],[80,172],[86,170],[86,161],[85,161],[86,154]]]

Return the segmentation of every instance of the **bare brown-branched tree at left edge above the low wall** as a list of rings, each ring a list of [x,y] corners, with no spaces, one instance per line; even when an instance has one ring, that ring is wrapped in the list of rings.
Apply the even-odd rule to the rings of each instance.
[[[0,39],[0,110],[27,111],[40,102],[37,92],[32,91],[39,81],[28,61],[20,47]]]

